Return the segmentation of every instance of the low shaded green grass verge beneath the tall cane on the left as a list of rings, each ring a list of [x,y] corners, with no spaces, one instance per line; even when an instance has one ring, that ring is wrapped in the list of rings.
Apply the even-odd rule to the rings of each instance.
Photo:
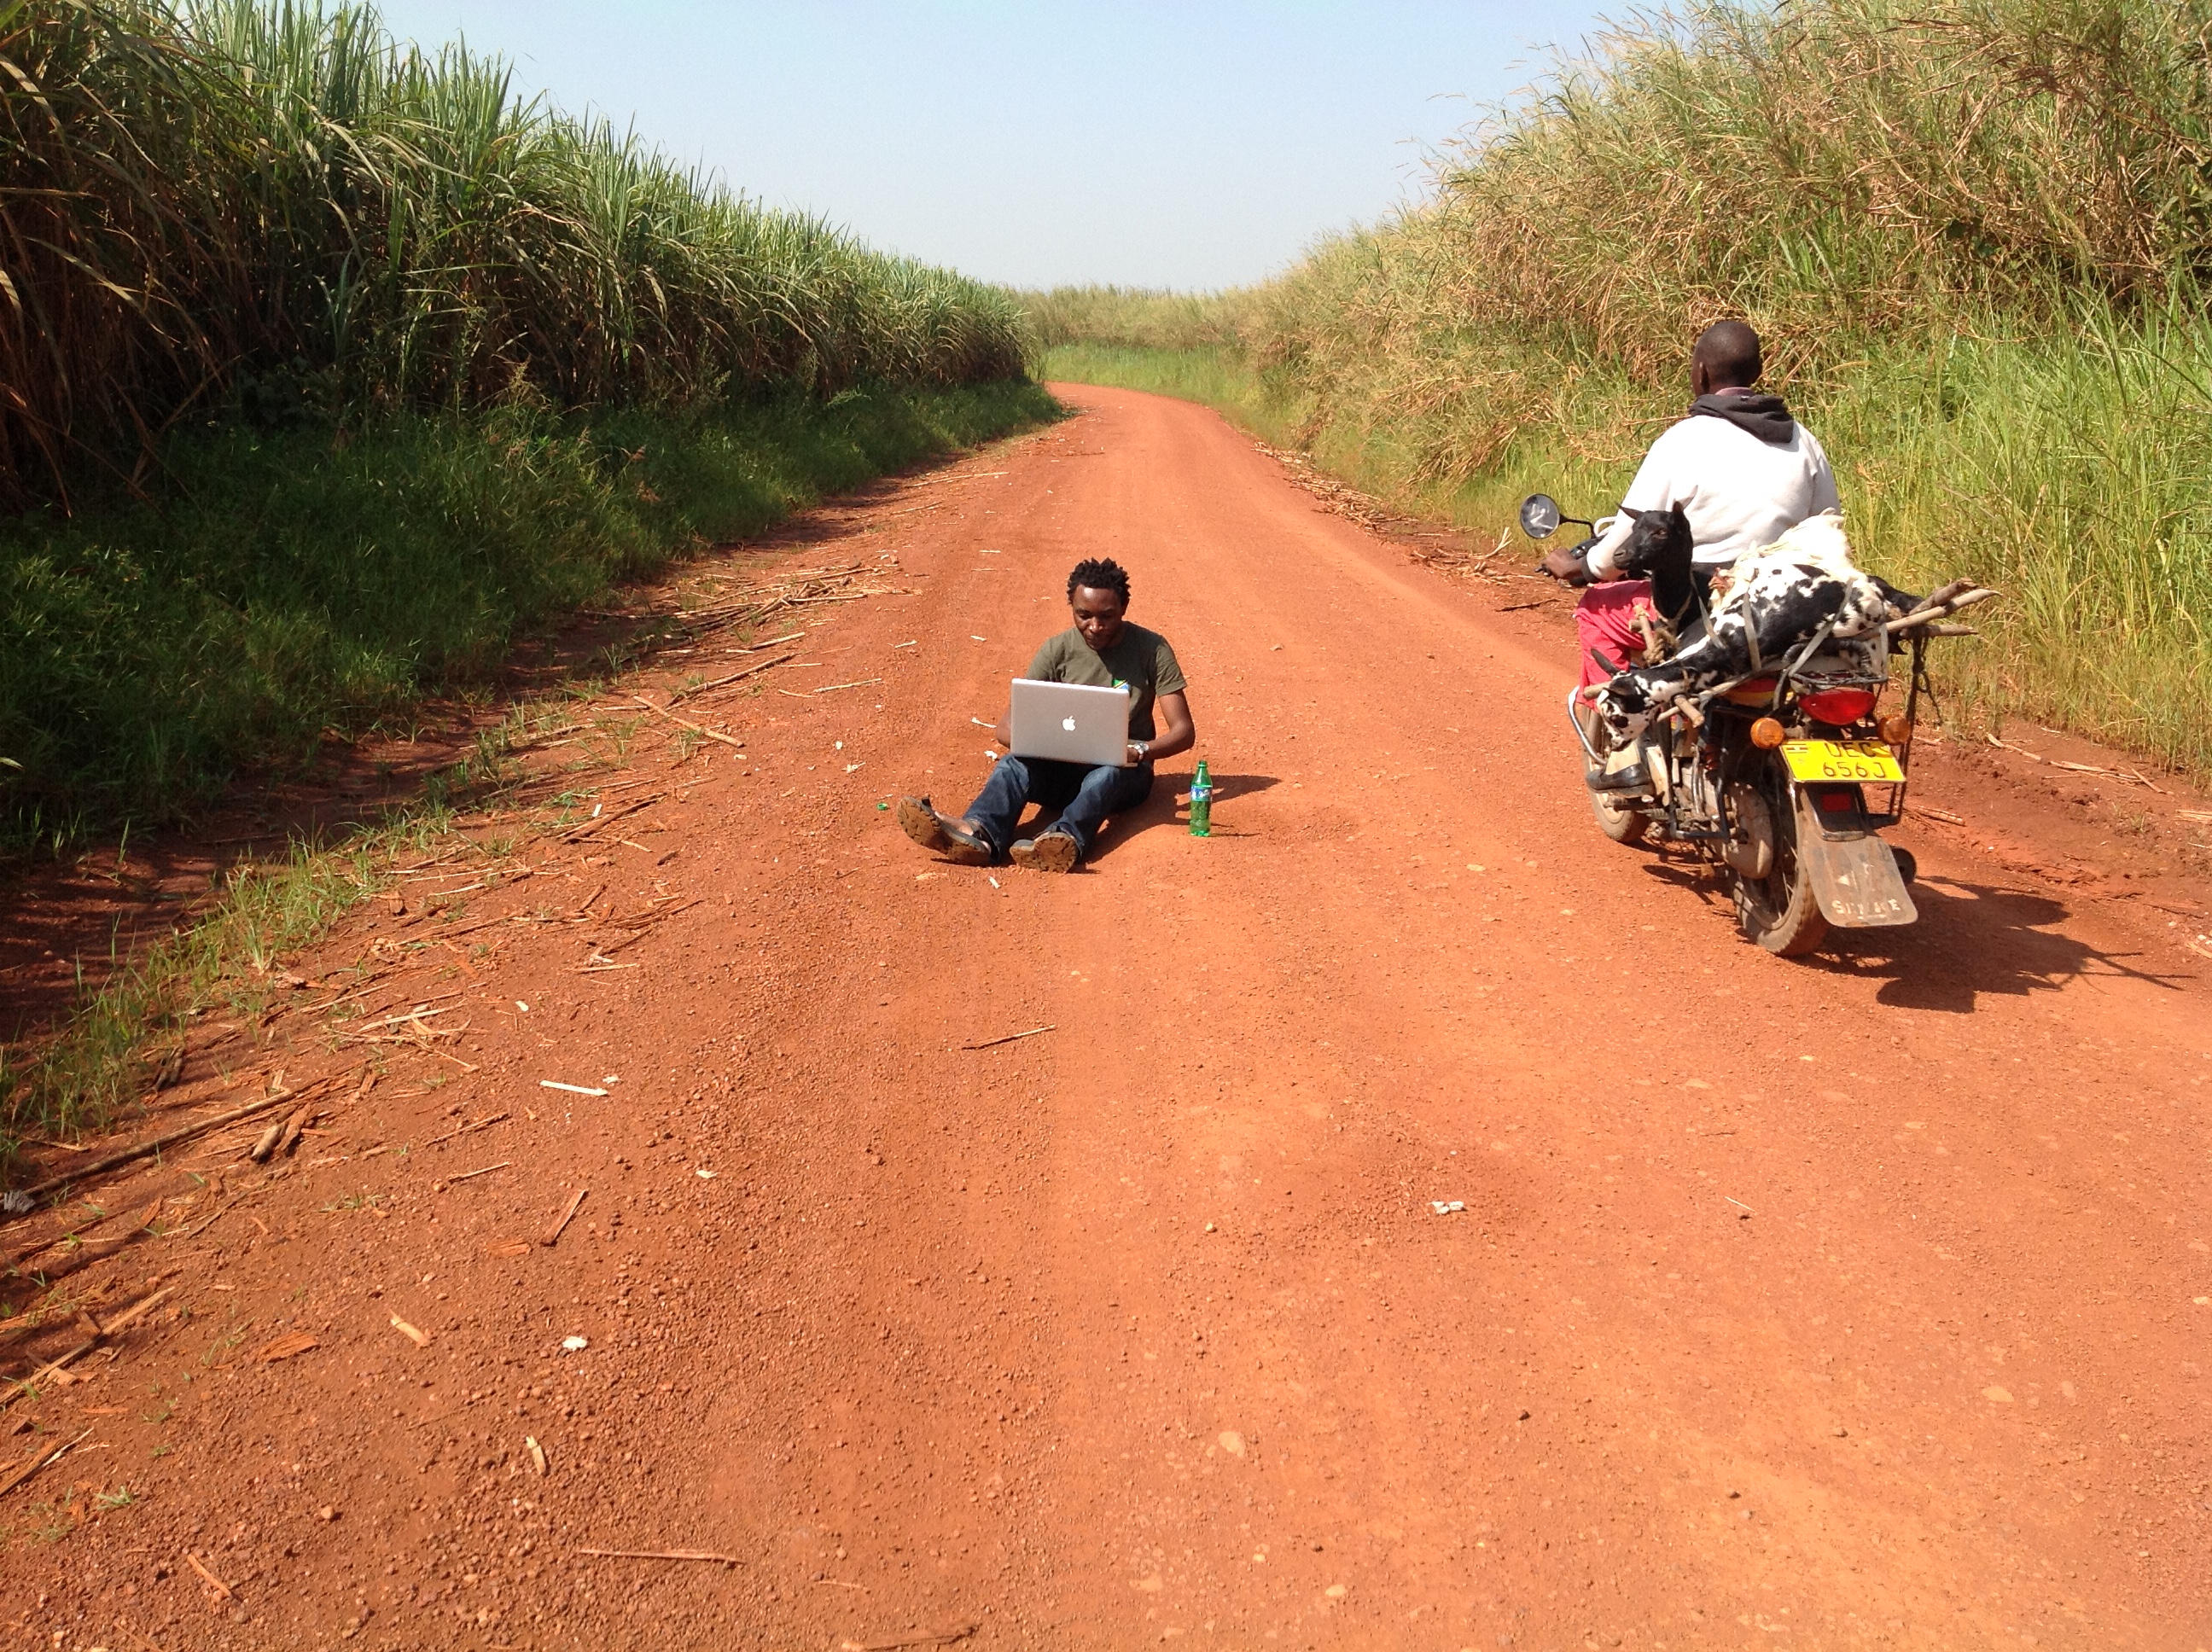
[[[0,524],[0,847],[188,816],[613,582],[1053,416],[1015,380],[188,431],[157,502]]]

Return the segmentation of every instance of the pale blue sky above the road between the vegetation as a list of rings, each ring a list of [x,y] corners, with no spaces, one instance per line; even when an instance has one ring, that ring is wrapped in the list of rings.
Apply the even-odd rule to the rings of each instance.
[[[385,0],[772,206],[1018,285],[1256,281],[1418,192],[1575,0]]]

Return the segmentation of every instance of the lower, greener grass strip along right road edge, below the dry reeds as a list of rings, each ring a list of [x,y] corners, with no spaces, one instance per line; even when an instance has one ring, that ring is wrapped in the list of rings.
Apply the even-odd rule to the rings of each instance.
[[[1537,489],[1610,511],[1681,416],[1681,396],[1624,372],[1544,365],[1526,365],[1535,416],[1475,372],[1464,398],[1422,402],[1380,360],[1343,372],[1327,402],[1217,347],[1057,345],[1044,374],[1206,402],[1400,509],[1495,537]],[[1451,378],[1449,363],[1422,372],[1431,389]],[[1975,615],[1984,637],[1936,655],[1953,712],[2070,728],[2212,781],[2212,323],[1900,343],[1792,400],[1867,566],[2004,593]]]

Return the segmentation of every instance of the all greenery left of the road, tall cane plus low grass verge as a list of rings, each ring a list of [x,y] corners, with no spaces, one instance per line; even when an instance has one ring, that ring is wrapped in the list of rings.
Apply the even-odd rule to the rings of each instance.
[[[367,4],[0,0],[0,849],[1044,418],[1031,347]]]

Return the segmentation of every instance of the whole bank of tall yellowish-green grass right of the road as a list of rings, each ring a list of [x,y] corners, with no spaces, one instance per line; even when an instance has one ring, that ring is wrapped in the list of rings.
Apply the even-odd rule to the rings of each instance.
[[[2208,290],[2212,0],[1692,0],[1274,283],[1029,303],[1046,372],[1186,372],[1486,531],[1610,509],[1747,316],[1865,560],[2006,593],[1964,699],[2212,776]]]

